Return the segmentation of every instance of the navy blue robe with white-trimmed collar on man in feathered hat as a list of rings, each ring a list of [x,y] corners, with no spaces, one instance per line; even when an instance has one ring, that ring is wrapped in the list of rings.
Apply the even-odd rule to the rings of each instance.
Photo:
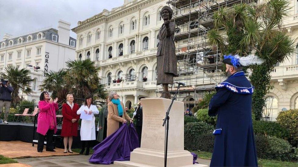
[[[216,86],[209,116],[217,115],[214,150],[210,166],[258,166],[252,123],[254,87],[243,71]]]

